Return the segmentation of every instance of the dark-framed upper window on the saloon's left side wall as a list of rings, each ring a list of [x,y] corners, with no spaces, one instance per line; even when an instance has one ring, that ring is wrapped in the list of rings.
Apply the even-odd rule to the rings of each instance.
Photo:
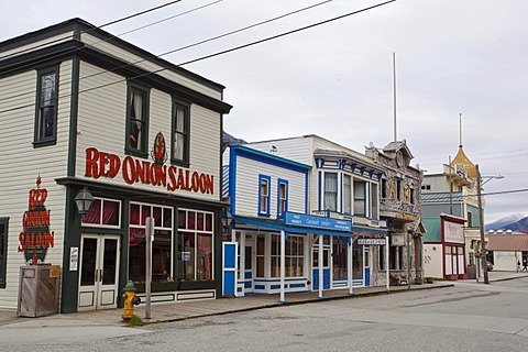
[[[42,70],[37,77],[34,144],[51,145],[57,139],[58,69]]]

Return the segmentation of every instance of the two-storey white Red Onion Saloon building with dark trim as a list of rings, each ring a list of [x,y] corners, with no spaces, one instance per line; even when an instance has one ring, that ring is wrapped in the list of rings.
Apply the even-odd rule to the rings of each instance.
[[[61,272],[59,311],[221,294],[224,87],[73,19],[0,43],[0,307],[21,267]]]

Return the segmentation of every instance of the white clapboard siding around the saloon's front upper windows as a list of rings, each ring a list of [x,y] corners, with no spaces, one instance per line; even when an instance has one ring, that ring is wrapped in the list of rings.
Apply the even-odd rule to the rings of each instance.
[[[123,77],[81,62],[79,108],[77,123],[76,175],[85,177],[86,150],[96,147],[100,152],[118,155],[123,160],[127,129],[127,81]],[[90,77],[91,76],[91,77]],[[92,87],[106,87],[90,90]],[[170,155],[172,139],[172,96],[157,89],[150,90],[150,117],[147,150],[151,151],[155,136],[162,132],[165,136],[167,154]],[[219,200],[220,189],[220,114],[204,107],[190,107],[190,151],[191,172],[208,174],[215,178],[215,194],[189,193],[176,189],[168,191],[164,187],[135,183],[129,185],[121,175],[114,178],[99,178],[107,184],[140,188],[148,191],[167,193],[183,197],[205,200]],[[168,162],[166,164],[169,165]]]

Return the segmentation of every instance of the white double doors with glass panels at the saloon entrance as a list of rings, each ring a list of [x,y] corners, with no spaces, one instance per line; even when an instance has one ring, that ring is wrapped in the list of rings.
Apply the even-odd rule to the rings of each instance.
[[[78,310],[118,307],[119,235],[82,234]]]

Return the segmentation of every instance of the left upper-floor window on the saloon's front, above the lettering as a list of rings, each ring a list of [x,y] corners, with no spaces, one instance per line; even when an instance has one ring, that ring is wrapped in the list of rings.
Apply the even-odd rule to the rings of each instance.
[[[129,84],[127,135],[127,153],[147,157],[148,90],[132,84]]]

